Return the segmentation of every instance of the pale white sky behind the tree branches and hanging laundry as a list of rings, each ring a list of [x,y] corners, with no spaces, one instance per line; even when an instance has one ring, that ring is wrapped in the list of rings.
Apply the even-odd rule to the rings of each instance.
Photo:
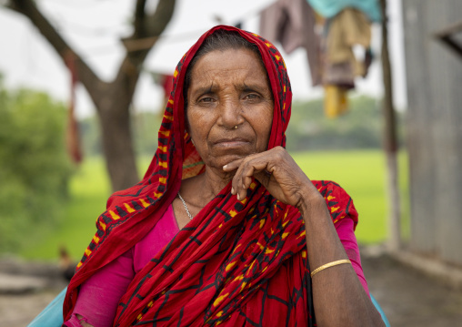
[[[7,0],[0,0],[0,5]],[[176,11],[162,38],[146,58],[146,71],[172,74],[179,59],[207,29],[218,24],[234,25],[258,33],[259,12],[275,0],[177,0]],[[56,26],[65,40],[104,80],[111,80],[125,55],[120,38],[129,36],[135,0],[36,0],[39,8]],[[147,1],[154,10],[156,0]],[[401,0],[388,0],[389,43],[394,77],[395,105],[407,105],[404,69]],[[8,88],[29,87],[43,90],[58,100],[70,97],[70,76],[55,50],[23,15],[0,6],[0,72]],[[373,26],[372,48],[380,56],[380,27]],[[323,96],[321,87],[311,87],[305,50],[287,55],[276,43],[286,61],[294,100]],[[357,78],[353,94],[381,97],[383,93],[380,61],[370,67],[367,78]],[[140,77],[133,105],[136,110],[158,111],[163,91],[148,74]],[[95,113],[84,87],[77,87],[76,114],[85,118]]]

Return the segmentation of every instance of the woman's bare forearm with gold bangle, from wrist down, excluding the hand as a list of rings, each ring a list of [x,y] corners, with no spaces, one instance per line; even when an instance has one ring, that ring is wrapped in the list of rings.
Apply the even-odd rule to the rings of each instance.
[[[328,262],[348,259],[323,197],[306,192],[305,199],[298,209],[305,220],[311,271]],[[319,271],[313,276],[312,287],[319,326],[384,325],[350,264]]]

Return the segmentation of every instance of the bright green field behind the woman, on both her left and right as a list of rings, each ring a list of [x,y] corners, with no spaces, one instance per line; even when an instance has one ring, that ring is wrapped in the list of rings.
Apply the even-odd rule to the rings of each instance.
[[[360,243],[386,240],[385,158],[380,150],[316,151],[293,156],[310,179],[334,180],[354,199],[359,212],[357,239]],[[399,159],[403,218],[407,226],[407,164],[404,154]],[[144,171],[148,160],[140,161],[140,171]],[[58,248],[64,245],[73,258],[80,259],[95,233],[95,220],[104,211],[109,195],[102,158],[85,159],[71,180],[70,194],[63,222],[55,230],[46,232],[42,240],[26,246],[20,253],[23,257],[54,260]],[[407,235],[407,230],[404,231]]]

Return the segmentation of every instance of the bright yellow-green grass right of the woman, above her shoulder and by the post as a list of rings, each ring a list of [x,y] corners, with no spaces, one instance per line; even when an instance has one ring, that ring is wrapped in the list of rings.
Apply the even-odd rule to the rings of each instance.
[[[356,235],[360,243],[387,239],[386,163],[380,150],[319,151],[294,154],[297,164],[310,179],[329,179],[340,184],[354,201],[359,214]],[[407,180],[405,154],[400,154],[400,181]],[[407,184],[401,183],[401,194]],[[403,204],[407,197],[403,197]],[[407,220],[407,207],[403,218]],[[404,232],[407,235],[407,230]]]

